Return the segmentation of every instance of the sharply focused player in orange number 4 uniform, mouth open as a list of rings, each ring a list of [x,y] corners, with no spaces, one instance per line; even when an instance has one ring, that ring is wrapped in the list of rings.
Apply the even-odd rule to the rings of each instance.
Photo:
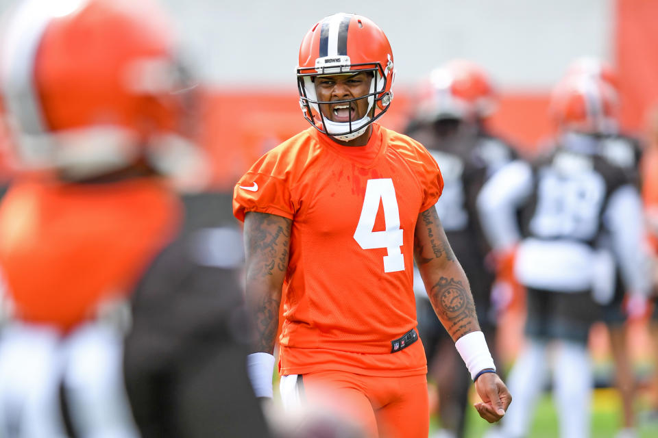
[[[282,304],[284,405],[328,405],[358,420],[369,437],[426,438],[414,259],[483,400],[475,404],[480,416],[500,420],[511,396],[434,208],[439,167],[424,146],[376,123],[391,105],[394,78],[391,46],[369,18],[340,13],[313,25],[297,68],[311,127],[239,180],[234,214],[245,222],[256,395],[273,394]]]

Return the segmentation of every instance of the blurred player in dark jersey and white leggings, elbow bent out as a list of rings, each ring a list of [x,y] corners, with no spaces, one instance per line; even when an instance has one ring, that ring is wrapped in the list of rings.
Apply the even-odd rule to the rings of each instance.
[[[555,146],[532,164],[517,160],[501,169],[478,197],[491,246],[515,252],[515,277],[527,289],[526,346],[509,374],[519,397],[489,436],[528,433],[549,350],[560,436],[589,436],[594,378],[587,341],[601,304],[614,294],[616,261],[626,290],[646,299],[636,181],[600,141],[614,133],[615,103],[605,81],[565,78],[552,94]],[[608,246],[599,242],[604,235]]]

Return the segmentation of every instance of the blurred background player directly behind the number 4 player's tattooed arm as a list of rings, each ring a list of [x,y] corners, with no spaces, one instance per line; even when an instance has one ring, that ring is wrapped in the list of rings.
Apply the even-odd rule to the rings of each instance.
[[[435,68],[417,95],[406,134],[424,144],[439,164],[444,185],[435,208],[469,279],[480,328],[487,344],[495,346],[497,315],[491,303],[494,275],[492,267],[485,264],[489,247],[480,228],[476,197],[486,179],[515,159],[516,153],[486,127],[485,120],[496,110],[496,95],[489,75],[474,62],[452,60]],[[459,353],[432,309],[417,269],[414,279],[418,329],[429,380],[440,397],[437,413],[441,430],[433,436],[463,437],[471,381],[459,372]],[[493,357],[496,359],[495,354]]]

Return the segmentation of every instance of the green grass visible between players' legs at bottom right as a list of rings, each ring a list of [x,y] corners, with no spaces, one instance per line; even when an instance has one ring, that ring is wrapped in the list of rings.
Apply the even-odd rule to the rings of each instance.
[[[642,400],[639,400],[642,410]],[[592,410],[591,438],[614,438],[620,427],[621,407],[617,393],[613,389],[596,389]],[[436,427],[432,423],[432,427]],[[483,436],[489,423],[482,420],[475,409],[470,409],[467,415],[467,438]],[[528,438],[558,438],[557,413],[553,407],[550,394],[544,394],[535,411],[533,427]],[[639,424],[639,438],[658,437],[658,422]]]

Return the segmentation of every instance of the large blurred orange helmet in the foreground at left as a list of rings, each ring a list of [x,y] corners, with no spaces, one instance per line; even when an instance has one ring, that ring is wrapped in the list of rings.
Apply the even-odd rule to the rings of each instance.
[[[3,30],[3,106],[23,166],[99,174],[183,129],[188,78],[154,1],[26,1]]]

